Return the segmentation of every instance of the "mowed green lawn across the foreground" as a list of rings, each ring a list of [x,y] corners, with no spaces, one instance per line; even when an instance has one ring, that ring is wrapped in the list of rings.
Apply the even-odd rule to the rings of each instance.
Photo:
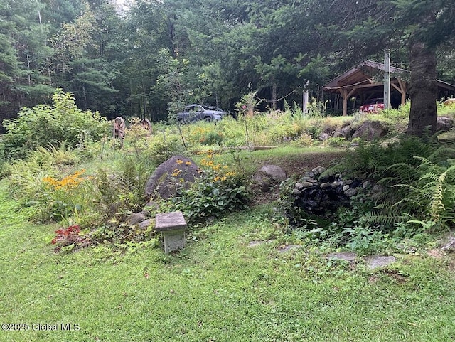
[[[387,269],[279,252],[270,208],[193,228],[182,252],[109,245],[53,252],[0,182],[0,341],[454,341],[450,257],[397,255]],[[35,324],[35,326],[33,326]],[[41,324],[37,326],[36,324]],[[73,331],[43,326],[77,324]],[[37,328],[38,327],[38,328]]]

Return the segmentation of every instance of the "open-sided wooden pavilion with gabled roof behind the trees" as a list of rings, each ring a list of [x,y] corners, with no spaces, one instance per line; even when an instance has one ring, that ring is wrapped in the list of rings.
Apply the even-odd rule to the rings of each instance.
[[[382,97],[384,92],[384,64],[365,60],[358,66],[346,71],[334,78],[326,85],[324,90],[339,93],[343,98],[343,115],[348,114],[348,100],[351,97],[360,97],[362,102],[373,96]],[[410,71],[390,66],[390,94],[398,92],[401,104],[404,105],[407,96],[408,80]],[[437,80],[439,96],[450,97],[455,94],[455,86],[441,80]]]

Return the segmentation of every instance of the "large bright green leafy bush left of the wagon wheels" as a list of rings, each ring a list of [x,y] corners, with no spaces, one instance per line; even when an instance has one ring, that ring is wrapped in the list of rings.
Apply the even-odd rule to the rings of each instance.
[[[77,146],[80,136],[100,140],[109,129],[106,119],[98,112],[82,112],[70,93],[56,90],[53,105],[23,108],[17,119],[4,122],[6,134],[2,137],[1,151],[7,159],[23,158],[38,146]]]

